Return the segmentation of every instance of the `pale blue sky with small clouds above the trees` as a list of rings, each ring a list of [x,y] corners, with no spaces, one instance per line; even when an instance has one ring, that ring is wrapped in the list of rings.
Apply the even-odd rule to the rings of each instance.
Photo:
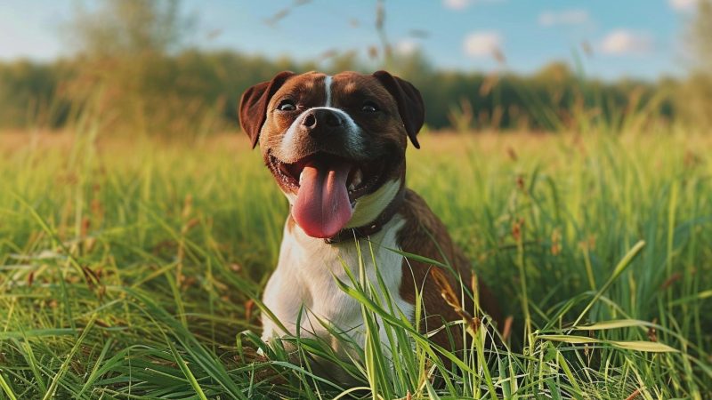
[[[184,0],[190,45],[323,60],[379,44],[377,0]],[[384,0],[395,52],[436,68],[528,74],[554,60],[587,76],[681,76],[684,33],[697,0]],[[0,0],[0,60],[73,52],[63,28],[81,0]],[[280,11],[289,12],[281,14]],[[501,54],[496,55],[496,54]],[[325,61],[326,62],[326,61]]]

